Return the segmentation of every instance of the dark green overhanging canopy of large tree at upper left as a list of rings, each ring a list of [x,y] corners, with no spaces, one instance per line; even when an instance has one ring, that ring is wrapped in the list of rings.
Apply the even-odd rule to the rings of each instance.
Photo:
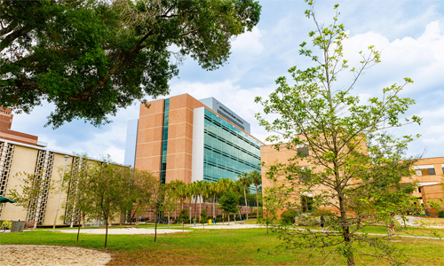
[[[46,125],[99,126],[134,100],[168,94],[186,56],[222,66],[260,9],[254,0],[2,0],[0,106],[29,113],[48,101]]]

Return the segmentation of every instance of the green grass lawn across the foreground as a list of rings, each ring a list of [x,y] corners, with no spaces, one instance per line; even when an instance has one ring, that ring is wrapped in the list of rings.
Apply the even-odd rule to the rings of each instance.
[[[52,231],[28,231],[0,235],[0,244],[32,244],[83,246],[114,254],[110,265],[313,265],[324,264],[322,255],[313,256],[300,252],[278,252],[281,243],[274,233],[266,230],[205,230],[187,228],[188,233],[159,235],[154,243],[153,235],[109,235],[108,247],[103,248],[104,235],[81,234],[76,243],[76,234]],[[369,229],[369,231],[377,231]],[[442,265],[444,240],[396,239],[387,242],[403,249],[409,262],[414,265]],[[364,251],[369,251],[364,247]],[[356,256],[358,264],[388,264],[371,257]],[[345,264],[344,258],[336,255],[333,264]]]

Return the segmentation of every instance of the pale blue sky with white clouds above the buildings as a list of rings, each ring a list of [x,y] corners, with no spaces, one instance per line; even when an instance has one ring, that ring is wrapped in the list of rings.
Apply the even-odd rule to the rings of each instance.
[[[264,140],[268,134],[254,118],[261,111],[254,98],[270,94],[275,79],[287,75],[289,67],[308,66],[297,50],[299,43],[309,41],[307,33],[314,25],[304,16],[306,5],[302,0],[259,2],[263,7],[258,26],[233,41],[227,64],[208,72],[193,59],[186,59],[178,77],[170,81],[170,95],[215,97],[250,121],[252,135]],[[340,4],[339,21],[349,35],[346,59],[353,64],[359,59],[357,52],[371,44],[382,51],[382,63],[366,71],[354,93],[364,99],[378,96],[384,87],[402,83],[404,77],[413,79],[415,83],[408,85],[401,96],[416,99],[408,115],[422,116],[424,122],[420,127],[409,125],[397,131],[422,135],[409,146],[409,154],[444,156],[444,1],[318,0],[315,6],[320,21],[331,21],[334,4]],[[341,82],[346,84],[347,80]],[[45,104],[30,114],[17,114],[12,129],[36,135],[53,149],[88,153],[91,157],[109,154],[123,163],[126,124],[139,117],[139,103],[120,110],[111,117],[112,123],[101,128],[83,121],[55,130],[44,128],[52,110],[52,105]]]

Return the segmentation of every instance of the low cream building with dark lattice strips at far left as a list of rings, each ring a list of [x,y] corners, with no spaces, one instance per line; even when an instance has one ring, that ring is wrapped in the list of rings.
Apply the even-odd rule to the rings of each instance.
[[[20,173],[33,174],[35,178],[49,180],[43,184],[38,207],[26,209],[11,203],[0,204],[0,220],[37,220],[38,225],[52,225],[59,194],[50,193],[48,186],[50,184],[59,185],[61,179],[59,168],[63,167],[65,163],[67,165],[75,163],[75,160],[78,159],[72,154],[0,138],[0,195],[7,197],[11,189],[21,192],[20,185],[23,184],[21,178],[24,176],[21,176]],[[60,202],[64,202],[66,198],[67,194],[62,193]],[[65,215],[63,208],[65,206],[60,204],[56,220],[59,225],[64,223],[59,219],[61,215]]]

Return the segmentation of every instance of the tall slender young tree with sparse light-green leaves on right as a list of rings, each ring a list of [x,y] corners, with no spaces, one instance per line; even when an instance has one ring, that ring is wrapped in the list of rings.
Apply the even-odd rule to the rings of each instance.
[[[355,264],[356,254],[368,254],[360,252],[362,246],[371,247],[374,252],[369,255],[397,263],[398,254],[391,245],[381,238],[358,235],[357,231],[385,224],[391,215],[403,215],[410,207],[411,190],[399,189],[398,184],[402,176],[411,175],[415,158],[406,158],[404,153],[414,137],[393,137],[387,129],[420,123],[417,116],[401,119],[415,103],[400,98],[400,91],[412,81],[405,78],[403,85],[384,88],[381,98],[360,102],[352,90],[363,71],[380,62],[380,53],[369,46],[368,54],[360,52],[361,65],[351,68],[350,85],[336,85],[337,79],[347,77],[339,75],[348,68],[343,59],[345,27],[337,22],[338,12],[329,26],[319,23],[313,1],[306,2],[309,9],[305,15],[315,24],[309,36],[320,52],[304,42],[299,53],[312,59],[315,66],[305,70],[291,67],[293,85],[280,77],[276,80],[278,88],[268,99],[256,98],[265,106],[264,113],[279,115],[274,121],[266,121],[261,114],[258,119],[268,131],[279,133],[267,138],[277,143],[276,149],[295,151],[293,158],[270,167],[267,174],[287,180],[287,193],[294,197],[291,208],[301,209],[305,201],[301,195],[323,187],[321,193],[313,194],[313,207],[333,208],[338,216],[329,221],[334,231],[282,229],[281,238],[287,248],[337,251],[348,265]],[[306,165],[310,168],[304,168]]]

